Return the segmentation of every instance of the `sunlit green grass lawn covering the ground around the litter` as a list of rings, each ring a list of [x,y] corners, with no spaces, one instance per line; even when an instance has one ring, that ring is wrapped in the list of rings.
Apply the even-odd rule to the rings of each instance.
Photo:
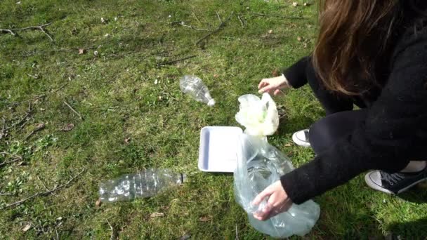
[[[0,196],[1,238],[108,239],[111,225],[119,239],[235,239],[236,229],[239,239],[268,239],[235,203],[232,175],[198,171],[199,130],[237,126],[237,97],[256,93],[258,81],[273,69],[310,53],[316,9],[302,3],[294,8],[291,1],[261,0],[1,1],[1,28],[52,22],[46,29],[55,39],[52,43],[40,31],[0,35],[0,115],[11,126],[28,108],[28,102],[14,102],[29,100],[33,109],[25,126],[11,128],[0,140],[0,152],[23,157],[0,168],[0,192],[12,194]],[[223,20],[234,15],[199,46],[194,43],[206,32],[170,24],[215,29],[216,11]],[[250,18],[250,12],[304,19]],[[237,15],[247,20],[245,27]],[[158,66],[190,55],[197,57]],[[184,74],[200,76],[217,105],[209,108],[180,93]],[[36,98],[41,94],[46,96]],[[287,119],[270,142],[299,166],[313,152],[285,145],[293,131],[324,112],[307,87],[276,100]],[[25,140],[41,123],[45,128]],[[69,124],[74,128],[63,131]],[[13,158],[0,155],[0,162]],[[150,199],[96,206],[101,181],[143,168],[172,168],[186,173],[188,182]],[[67,187],[4,208],[45,192],[44,185],[63,184],[82,169]],[[322,214],[305,238],[425,238],[425,199],[426,189],[401,197],[373,192],[360,176],[315,198]],[[150,218],[157,212],[164,217]]]

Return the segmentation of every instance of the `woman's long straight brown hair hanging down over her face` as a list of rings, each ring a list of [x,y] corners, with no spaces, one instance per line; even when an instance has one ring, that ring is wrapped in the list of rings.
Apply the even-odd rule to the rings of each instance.
[[[388,51],[396,0],[321,0],[313,66],[330,91],[359,95],[374,86],[378,56]]]

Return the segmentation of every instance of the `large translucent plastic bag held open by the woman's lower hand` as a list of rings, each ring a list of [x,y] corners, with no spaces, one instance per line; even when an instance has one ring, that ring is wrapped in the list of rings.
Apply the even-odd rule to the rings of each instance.
[[[249,223],[259,232],[277,238],[294,234],[303,236],[310,232],[320,215],[320,207],[309,200],[303,204],[293,204],[288,211],[280,213],[269,220],[260,221],[253,214],[261,211],[267,204],[266,199],[259,206],[251,201],[265,187],[280,180],[280,176],[294,169],[291,161],[278,149],[265,140],[242,134],[240,149],[237,151],[237,168],[235,178],[235,198],[237,203],[248,213]]]

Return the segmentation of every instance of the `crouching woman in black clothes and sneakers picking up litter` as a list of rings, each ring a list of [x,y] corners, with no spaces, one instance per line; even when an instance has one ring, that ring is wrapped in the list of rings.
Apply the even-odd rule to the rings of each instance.
[[[368,170],[399,194],[427,179],[427,1],[324,0],[315,51],[263,79],[260,93],[310,85],[327,116],[294,133],[315,159],[256,196],[266,220]],[[353,105],[360,109],[353,110]]]

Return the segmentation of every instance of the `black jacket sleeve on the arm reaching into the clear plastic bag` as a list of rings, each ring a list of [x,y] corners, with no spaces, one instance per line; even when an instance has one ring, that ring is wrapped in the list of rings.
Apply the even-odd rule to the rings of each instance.
[[[421,160],[408,155],[419,151],[420,142],[427,144],[426,32],[412,35],[395,48],[387,84],[369,107],[364,123],[313,161],[282,176],[282,186],[294,203],[301,204],[368,169],[395,172],[409,160]]]

